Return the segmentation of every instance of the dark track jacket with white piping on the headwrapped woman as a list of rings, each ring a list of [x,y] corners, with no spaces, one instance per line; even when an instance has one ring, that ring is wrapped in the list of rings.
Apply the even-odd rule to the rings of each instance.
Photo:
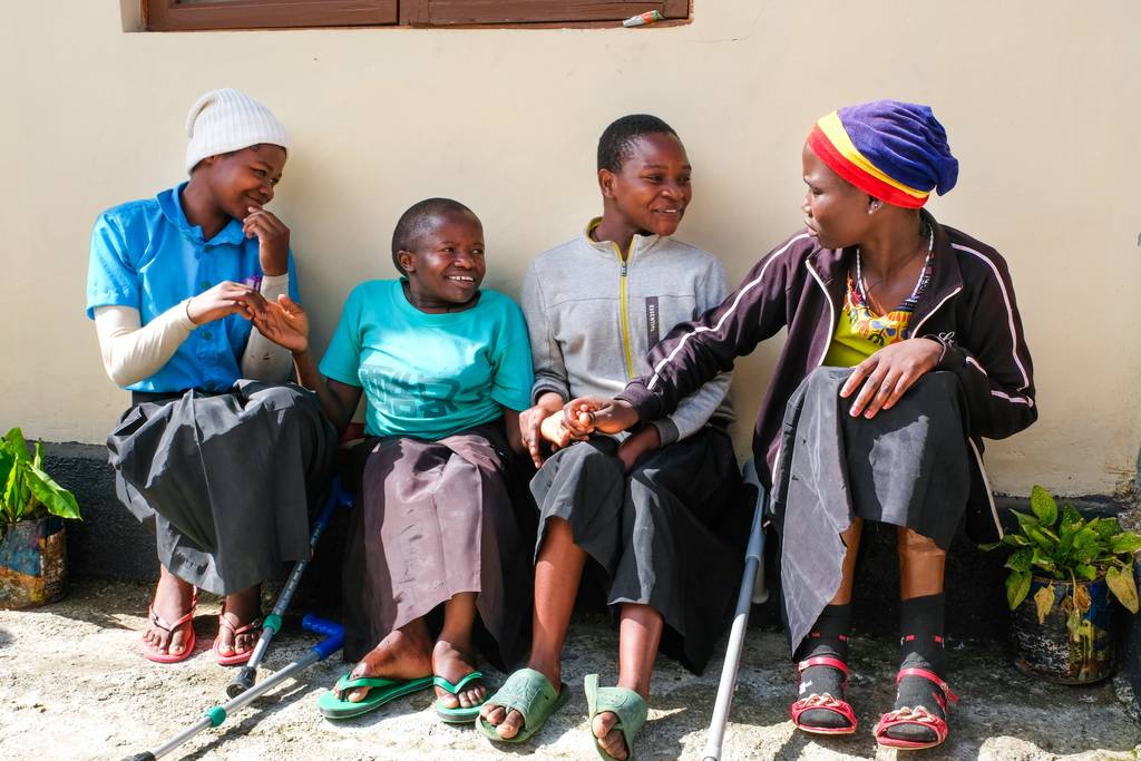
[[[962,382],[979,455],[980,437],[1004,438],[1037,419],[1030,353],[1005,260],[985,243],[923,216],[934,230],[934,273],[908,335],[944,345],[937,370],[954,372]],[[675,326],[650,350],[653,374],[631,381],[618,398],[630,402],[641,420],[655,420],[786,327],[753,431],[756,470],[770,486],[785,405],[824,361],[855,254],[855,248],[822,249],[803,230],[793,235],[758,261],[720,306]],[[979,486],[989,496],[978,464]]]

